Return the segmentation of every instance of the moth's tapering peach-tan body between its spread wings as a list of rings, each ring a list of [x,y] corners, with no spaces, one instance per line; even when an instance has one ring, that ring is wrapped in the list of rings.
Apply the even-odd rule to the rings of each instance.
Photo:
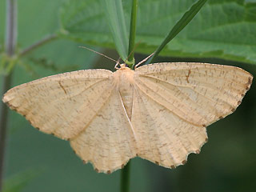
[[[122,102],[126,108],[126,113],[131,118],[134,94],[134,70],[130,70],[128,67],[122,67],[114,72],[114,78],[117,82],[117,89],[121,95]]]

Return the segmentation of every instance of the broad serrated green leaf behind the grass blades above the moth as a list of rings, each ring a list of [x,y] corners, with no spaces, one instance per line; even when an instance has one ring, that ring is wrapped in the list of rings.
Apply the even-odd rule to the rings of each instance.
[[[150,54],[195,0],[142,0],[138,5],[137,52]],[[63,38],[114,48],[104,10],[93,0],[62,7]],[[98,3],[98,5],[97,5]],[[87,4],[87,5],[85,5]],[[130,3],[123,1],[125,16]],[[224,58],[256,63],[256,3],[209,0],[193,21],[162,50],[162,56]],[[65,13],[65,14],[64,14]]]

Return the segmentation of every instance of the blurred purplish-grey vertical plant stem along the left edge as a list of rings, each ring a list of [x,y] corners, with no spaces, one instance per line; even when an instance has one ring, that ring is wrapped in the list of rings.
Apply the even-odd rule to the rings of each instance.
[[[11,58],[14,56],[17,46],[17,0],[6,0],[6,54]],[[3,76],[2,93],[10,89],[11,72]],[[1,102],[0,118],[0,191],[2,191],[2,178],[4,169],[4,154],[6,146],[6,127],[8,109]]]

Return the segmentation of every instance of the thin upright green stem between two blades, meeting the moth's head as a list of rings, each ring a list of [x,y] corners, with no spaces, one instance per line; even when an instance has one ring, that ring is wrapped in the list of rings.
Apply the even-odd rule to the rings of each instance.
[[[128,66],[131,68],[134,66],[134,45],[135,45],[135,35],[136,35],[136,21],[137,21],[137,10],[138,10],[138,0],[133,0],[131,15],[130,15],[130,38],[129,38],[129,49],[128,49]]]

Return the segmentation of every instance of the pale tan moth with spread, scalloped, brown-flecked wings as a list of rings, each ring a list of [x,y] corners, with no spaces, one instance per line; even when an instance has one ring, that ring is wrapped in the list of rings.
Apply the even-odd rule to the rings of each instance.
[[[206,126],[231,114],[253,76],[234,66],[162,62],[130,70],[78,70],[8,90],[2,101],[46,134],[70,141],[110,174],[130,158],[175,168],[207,142]]]

